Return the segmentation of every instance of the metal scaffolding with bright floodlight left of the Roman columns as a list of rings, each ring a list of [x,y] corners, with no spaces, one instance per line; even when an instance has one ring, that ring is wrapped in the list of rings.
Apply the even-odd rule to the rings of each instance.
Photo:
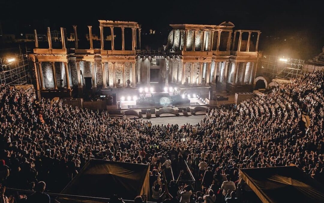
[[[27,54],[0,58],[0,81],[4,84],[27,84],[29,74]]]

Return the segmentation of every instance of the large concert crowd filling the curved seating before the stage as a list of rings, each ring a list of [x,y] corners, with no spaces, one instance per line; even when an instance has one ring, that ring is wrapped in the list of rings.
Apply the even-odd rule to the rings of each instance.
[[[153,201],[251,201],[254,193],[239,181],[241,168],[296,165],[324,183],[323,91],[324,72],[307,73],[267,95],[209,109],[198,125],[178,126],[37,101],[1,84],[0,181],[40,194],[46,183],[59,192],[96,158],[149,164]],[[190,178],[187,165],[195,184],[177,181]],[[0,202],[10,201],[3,190]]]

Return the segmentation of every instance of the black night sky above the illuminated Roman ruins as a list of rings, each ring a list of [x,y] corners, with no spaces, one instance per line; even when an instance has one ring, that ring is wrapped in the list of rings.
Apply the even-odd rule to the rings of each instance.
[[[78,32],[93,25],[93,33],[99,33],[98,19],[129,20],[140,23],[144,33],[161,32],[142,39],[142,47],[155,47],[166,43],[169,24],[231,21],[235,29],[261,30],[260,50],[266,54],[308,59],[324,46],[323,1],[2,0],[0,7],[4,33],[45,33],[48,26],[73,32],[73,24]]]

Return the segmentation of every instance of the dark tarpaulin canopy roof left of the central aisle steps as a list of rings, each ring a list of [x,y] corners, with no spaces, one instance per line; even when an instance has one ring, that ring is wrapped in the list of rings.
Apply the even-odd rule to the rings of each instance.
[[[91,159],[61,194],[110,198],[116,194],[133,200],[149,195],[149,167],[146,164]]]

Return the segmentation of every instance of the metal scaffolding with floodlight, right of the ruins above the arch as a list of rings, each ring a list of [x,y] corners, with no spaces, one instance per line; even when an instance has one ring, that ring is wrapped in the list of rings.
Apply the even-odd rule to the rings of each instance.
[[[260,71],[271,79],[290,79],[302,74],[305,60],[295,58],[273,57],[261,58]]]

